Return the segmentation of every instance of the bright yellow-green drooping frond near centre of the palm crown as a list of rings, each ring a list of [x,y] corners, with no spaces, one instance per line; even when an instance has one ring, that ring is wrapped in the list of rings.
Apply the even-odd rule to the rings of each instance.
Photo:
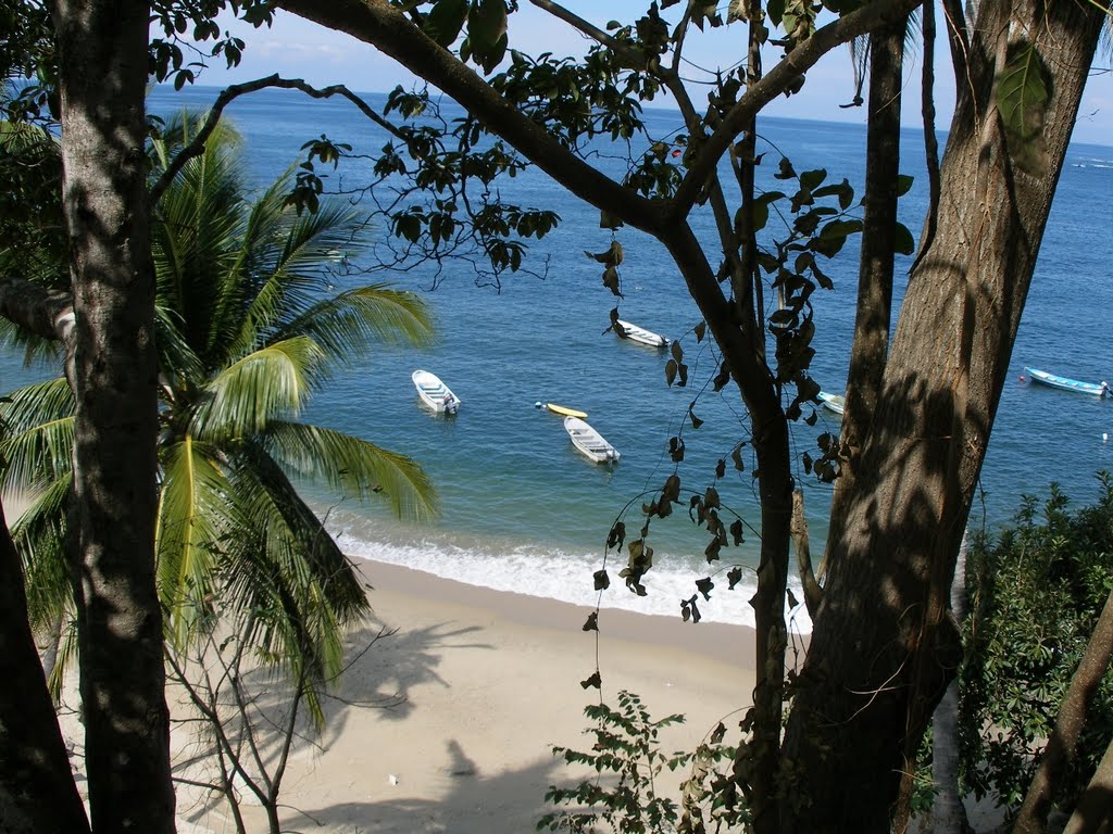
[[[319,381],[323,354],[308,338],[294,338],[250,354],[221,370],[206,387],[191,431],[220,440],[263,431],[283,415],[296,415]]]

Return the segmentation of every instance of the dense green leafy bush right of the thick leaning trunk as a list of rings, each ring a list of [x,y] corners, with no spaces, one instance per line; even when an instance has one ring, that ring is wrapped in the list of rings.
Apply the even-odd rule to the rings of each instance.
[[[1058,705],[1113,588],[1113,479],[1092,506],[1072,510],[1056,485],[1028,496],[996,540],[974,539],[961,673],[965,782],[1016,807],[1054,726]],[[1087,712],[1078,756],[1057,786],[1070,808],[1113,735],[1113,674]]]

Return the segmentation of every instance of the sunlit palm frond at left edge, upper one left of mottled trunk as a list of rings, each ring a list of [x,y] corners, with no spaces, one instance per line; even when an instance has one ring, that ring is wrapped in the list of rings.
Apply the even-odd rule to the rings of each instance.
[[[18,388],[0,401],[0,488],[35,492],[72,467],[73,394],[65,378]]]

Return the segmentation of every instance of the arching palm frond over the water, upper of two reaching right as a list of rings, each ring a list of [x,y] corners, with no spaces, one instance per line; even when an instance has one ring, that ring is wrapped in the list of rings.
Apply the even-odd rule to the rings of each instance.
[[[314,304],[279,332],[294,335],[312,336],[331,359],[348,364],[376,344],[427,345],[433,325],[418,296],[374,284]]]

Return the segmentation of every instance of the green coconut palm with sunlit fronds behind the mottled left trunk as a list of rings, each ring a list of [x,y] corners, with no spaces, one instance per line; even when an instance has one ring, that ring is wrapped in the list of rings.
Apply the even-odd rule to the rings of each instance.
[[[152,146],[156,172],[190,131],[188,118],[167,126]],[[407,518],[432,514],[434,496],[410,458],[296,417],[338,367],[373,345],[421,344],[431,330],[408,292],[333,289],[343,279],[332,271],[335,251],[357,251],[349,207],[324,201],[298,216],[284,205],[288,171],[248,200],[243,170],[238,137],[218,128],[155,212],[159,592],[171,645],[208,633],[220,608],[262,657],[319,683],[337,672],[344,631],[368,608],[356,570],[295,483],[377,495]],[[0,488],[39,494],[13,537],[40,625],[68,599],[59,579],[67,576],[71,415],[65,380],[0,404],[8,433],[0,457],[9,461]]]

